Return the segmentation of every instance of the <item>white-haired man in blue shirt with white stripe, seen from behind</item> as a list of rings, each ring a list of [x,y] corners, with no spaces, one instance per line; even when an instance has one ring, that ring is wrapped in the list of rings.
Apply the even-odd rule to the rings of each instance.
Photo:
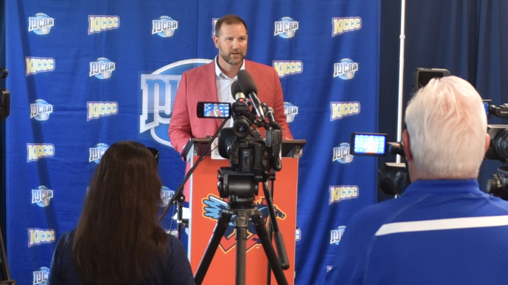
[[[432,79],[405,122],[411,184],[346,224],[328,284],[508,284],[508,202],[477,181],[490,144],[482,98],[458,77]]]

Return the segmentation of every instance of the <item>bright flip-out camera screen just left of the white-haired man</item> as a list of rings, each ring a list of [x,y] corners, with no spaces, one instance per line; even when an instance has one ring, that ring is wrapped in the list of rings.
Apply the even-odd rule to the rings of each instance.
[[[387,134],[383,133],[352,133],[351,154],[353,155],[385,155]]]

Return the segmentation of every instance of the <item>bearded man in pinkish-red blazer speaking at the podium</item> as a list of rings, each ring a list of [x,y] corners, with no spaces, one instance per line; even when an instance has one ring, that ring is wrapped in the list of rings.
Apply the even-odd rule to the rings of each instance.
[[[184,72],[169,127],[171,144],[180,154],[191,137],[213,135],[221,119],[200,119],[197,116],[199,101],[234,102],[231,84],[240,69],[252,76],[258,87],[261,102],[273,108],[275,121],[282,127],[282,138],[292,139],[284,114],[282,86],[271,66],[245,60],[247,53],[247,25],[236,15],[226,15],[215,24],[213,42],[219,50],[213,62]],[[245,94],[247,96],[247,94]],[[265,131],[260,129],[262,135]]]

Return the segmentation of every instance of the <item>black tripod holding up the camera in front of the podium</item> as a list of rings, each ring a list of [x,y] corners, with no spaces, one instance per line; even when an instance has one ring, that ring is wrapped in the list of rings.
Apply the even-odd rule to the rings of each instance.
[[[272,217],[271,213],[273,212],[273,204],[271,203],[271,196],[268,192],[268,181],[263,183],[263,189],[265,191],[265,196],[267,198],[268,207],[272,207],[270,210],[270,219],[273,223],[276,223],[275,216]],[[255,200],[254,195],[246,195],[246,196],[238,196],[238,195],[230,195],[229,196],[229,207],[221,211],[219,215],[219,219],[217,220],[217,224],[215,225],[215,229],[213,230],[212,237],[210,238],[210,242],[206,247],[205,254],[201,259],[201,262],[198,266],[196,274],[194,276],[196,284],[200,285],[203,282],[206,271],[210,266],[210,262],[215,255],[215,251],[217,250],[217,246],[220,243],[220,239],[224,236],[226,232],[229,222],[232,219],[232,216],[235,215],[236,218],[234,220],[234,225],[236,229],[236,285],[244,285],[245,284],[245,242],[247,239],[247,228],[249,219],[250,222],[256,229],[256,232],[261,240],[261,244],[263,245],[263,250],[265,251],[265,255],[270,264],[271,270],[275,275],[275,279],[279,285],[287,285],[288,281],[285,278],[285,275],[282,269],[289,268],[288,257],[285,253],[285,247],[282,242],[277,243],[277,249],[279,251],[280,258],[282,262],[277,259],[277,254],[273,248],[270,235],[268,234],[268,230],[264,225],[264,217],[261,211],[255,206],[253,203]],[[280,232],[278,236],[281,238]],[[276,234],[277,237],[277,234]]]

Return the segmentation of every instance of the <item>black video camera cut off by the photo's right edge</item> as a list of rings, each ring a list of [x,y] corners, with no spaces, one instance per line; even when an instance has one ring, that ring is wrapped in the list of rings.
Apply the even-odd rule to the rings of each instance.
[[[495,106],[491,100],[483,100],[487,117],[508,118],[508,104]],[[504,166],[497,168],[487,181],[487,192],[508,200],[508,125],[487,125],[490,146],[485,154],[486,159],[499,160]]]

